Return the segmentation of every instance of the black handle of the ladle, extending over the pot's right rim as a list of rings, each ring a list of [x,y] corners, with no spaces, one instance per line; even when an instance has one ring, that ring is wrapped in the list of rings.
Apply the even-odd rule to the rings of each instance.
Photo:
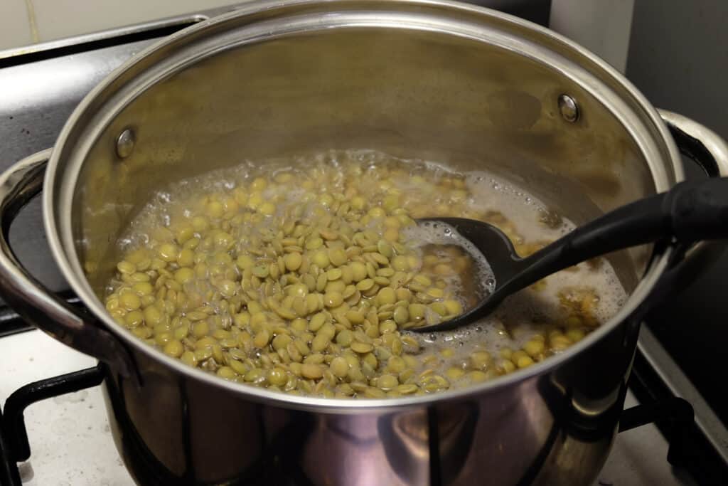
[[[521,289],[595,256],[665,238],[728,238],[728,178],[684,181],[606,213],[522,259],[521,270],[502,289]]]

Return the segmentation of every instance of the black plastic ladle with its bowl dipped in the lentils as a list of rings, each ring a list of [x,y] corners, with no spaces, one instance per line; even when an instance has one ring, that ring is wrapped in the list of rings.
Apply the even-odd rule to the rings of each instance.
[[[495,275],[494,291],[448,321],[413,327],[414,332],[456,329],[493,312],[503,299],[542,278],[612,251],[659,240],[679,243],[728,238],[728,178],[684,181],[668,192],[624,205],[577,227],[526,258],[491,224],[464,218],[425,218],[443,222],[478,248]]]

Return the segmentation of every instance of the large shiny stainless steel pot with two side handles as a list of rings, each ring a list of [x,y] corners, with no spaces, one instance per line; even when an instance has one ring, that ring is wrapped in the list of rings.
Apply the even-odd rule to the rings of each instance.
[[[243,159],[371,148],[487,168],[578,223],[683,179],[668,126],[728,176],[714,133],[661,118],[606,63],[515,17],[440,0],[253,3],[137,55],[84,98],[52,152],[1,177],[0,286],[25,318],[108,365],[114,438],[139,482],[273,484],[287,471],[313,485],[586,484],[617,428],[647,298],[680,248],[615,254],[628,302],[565,353],[403,399],[220,380],[136,340],[100,294],[114,242],[156,189]],[[55,261],[87,312],[43,289],[7,246],[41,187]]]

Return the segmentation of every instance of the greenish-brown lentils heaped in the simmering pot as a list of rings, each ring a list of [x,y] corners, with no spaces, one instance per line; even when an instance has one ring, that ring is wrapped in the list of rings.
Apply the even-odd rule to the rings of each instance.
[[[473,211],[456,174],[356,159],[300,167],[191,181],[150,205],[116,265],[108,312],[191,367],[325,397],[444,391],[583,337],[537,334],[523,349],[492,356],[483,346],[457,363],[452,350],[428,353],[406,329],[462,313],[459,275],[472,262],[425,251],[408,235],[413,218],[491,220],[526,243],[502,215]]]

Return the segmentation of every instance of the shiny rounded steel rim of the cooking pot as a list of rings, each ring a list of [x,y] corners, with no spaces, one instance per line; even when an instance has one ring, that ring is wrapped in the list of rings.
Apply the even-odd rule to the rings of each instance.
[[[111,74],[103,79],[96,87],[88,93],[81,103],[74,109],[71,116],[63,126],[63,130],[58,136],[55,147],[52,151],[50,161],[48,162],[47,171],[44,179],[44,194],[43,194],[43,210],[44,210],[44,225],[47,233],[47,240],[55,258],[55,262],[58,264],[61,273],[68,281],[71,289],[82,299],[84,305],[89,308],[92,313],[98,318],[98,321],[103,322],[105,329],[112,332],[114,336],[119,338],[125,345],[129,346],[135,351],[144,353],[147,357],[161,364],[165,367],[170,367],[176,372],[179,372],[186,377],[190,377],[194,380],[199,380],[207,385],[225,388],[231,393],[237,393],[241,397],[252,399],[253,401],[263,402],[265,404],[273,404],[280,407],[296,408],[296,409],[309,409],[317,412],[331,412],[331,413],[351,413],[351,412],[373,412],[374,410],[394,410],[401,409],[404,407],[421,407],[428,404],[441,401],[451,401],[455,399],[463,399],[467,396],[472,396],[480,393],[488,393],[507,388],[511,385],[516,385],[524,380],[537,375],[544,375],[552,369],[566,363],[571,358],[574,358],[578,354],[587,350],[596,342],[601,340],[606,334],[612,332],[617,326],[628,320],[630,315],[638,308],[638,305],[648,296],[652,291],[654,285],[659,280],[662,273],[668,267],[668,261],[670,256],[673,254],[674,248],[668,246],[660,251],[654,251],[652,259],[649,262],[648,267],[645,270],[643,277],[638,282],[638,285],[634,291],[630,294],[625,304],[620,310],[612,316],[608,321],[599,326],[593,332],[587,334],[587,336],[572,345],[563,353],[557,356],[550,356],[545,361],[534,364],[526,369],[520,369],[504,377],[499,377],[494,380],[488,380],[485,383],[479,385],[469,385],[464,388],[459,388],[454,391],[438,392],[432,395],[424,396],[411,396],[402,398],[387,398],[387,399],[331,399],[315,396],[294,396],[288,393],[268,391],[264,388],[256,388],[251,385],[243,385],[240,383],[229,382],[222,380],[221,378],[211,375],[210,373],[204,372],[201,369],[188,367],[181,361],[166,356],[161,350],[153,348],[146,343],[141,342],[133,336],[127,329],[122,328],[114,322],[110,315],[106,312],[106,308],[102,302],[96,297],[90,285],[88,284],[85,275],[82,271],[82,266],[79,262],[79,257],[75,251],[73,244],[68,246],[63,245],[62,236],[58,232],[58,225],[55,219],[55,180],[59,176],[58,167],[61,160],[61,150],[63,146],[68,144],[68,138],[71,133],[78,128],[78,125],[82,125],[82,118],[87,117],[87,111],[92,111],[93,102],[97,97],[108,89],[114,82],[116,82],[122,74],[126,73],[132,66],[136,66],[143,60],[146,60],[154,52],[162,50],[162,48],[170,46],[178,42],[183,42],[184,39],[189,38],[191,34],[197,34],[200,31],[211,28],[212,26],[223,25],[226,22],[237,19],[238,17],[245,17],[247,15],[256,14],[266,10],[283,8],[283,7],[298,7],[298,6],[313,6],[317,4],[331,5],[336,7],[339,5],[350,5],[357,3],[357,0],[293,0],[293,1],[281,1],[281,0],[261,0],[253,1],[250,4],[246,4],[241,9],[228,12],[220,15],[219,17],[213,17],[209,20],[202,21],[190,26],[175,34],[172,34],[159,42],[155,42],[145,50],[139,52],[130,60],[127,60],[121,66],[116,68]],[[361,3],[361,2],[360,2]],[[371,3],[365,1],[365,3]],[[537,24],[531,23],[527,20],[523,20],[513,15],[507,15],[502,12],[488,9],[486,7],[478,7],[471,4],[462,4],[458,1],[451,0],[397,0],[397,1],[380,1],[377,5],[384,5],[396,9],[401,5],[406,6],[422,6],[422,7],[445,7],[451,12],[458,12],[462,14],[478,15],[481,18],[498,20],[500,22],[509,23],[513,28],[520,28],[521,30],[529,31],[531,34],[538,34],[544,36],[550,42],[554,42],[559,47],[570,50],[572,54],[579,55],[585,60],[593,63],[599,70],[602,71],[604,76],[608,77],[610,81],[617,83],[623,90],[625,90],[632,98],[633,102],[638,107],[644,110],[644,113],[649,118],[649,122],[654,125],[654,128],[660,134],[660,143],[664,144],[668,153],[670,154],[670,162],[672,163],[672,170],[676,179],[679,182],[684,179],[683,168],[680,162],[680,157],[676,145],[671,138],[668,129],[665,127],[660,115],[657,110],[644,98],[636,87],[634,87],[625,77],[622,76],[616,69],[609,66],[604,60],[598,58],[592,52],[586,50],[584,47],[579,46],[571,40],[556,34],[550,29],[544,28]],[[333,12],[333,8],[331,12]],[[331,13],[329,12],[329,13]],[[389,12],[389,9],[387,10]],[[320,14],[318,14],[320,15]],[[283,15],[283,17],[286,17]],[[325,28],[325,27],[324,27]],[[446,32],[443,32],[446,34]],[[265,42],[269,39],[258,39],[254,42]],[[194,62],[194,60],[192,60]],[[155,79],[157,82],[159,79]],[[77,168],[76,168],[77,169]],[[78,171],[75,171],[73,182],[74,184],[66,184],[66,186],[75,185],[75,181],[78,176]],[[668,176],[662,173],[655,173],[652,171],[653,182],[658,192],[668,189],[670,187],[670,181]],[[67,192],[64,188],[64,194]],[[71,227],[71,211],[66,211],[65,214],[61,214],[59,219],[63,219],[60,226],[65,230]],[[63,235],[65,241],[72,243],[73,238],[67,239],[66,235]],[[79,276],[83,275],[83,276]],[[93,325],[93,324],[92,324]]]

